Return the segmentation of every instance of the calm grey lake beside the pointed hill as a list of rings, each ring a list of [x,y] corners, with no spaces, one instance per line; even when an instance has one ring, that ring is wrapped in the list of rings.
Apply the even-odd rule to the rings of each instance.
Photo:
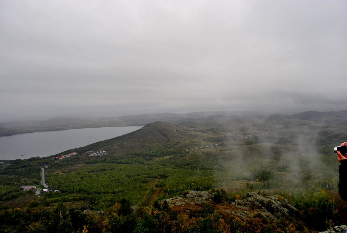
[[[142,126],[81,128],[0,137],[0,159],[51,156],[65,150],[115,138],[140,128]]]

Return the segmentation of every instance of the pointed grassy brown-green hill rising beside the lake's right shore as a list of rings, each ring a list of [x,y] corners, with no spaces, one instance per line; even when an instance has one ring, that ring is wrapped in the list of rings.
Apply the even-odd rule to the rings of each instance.
[[[204,139],[220,137],[220,133],[211,131],[194,131],[194,128],[177,125],[169,122],[154,122],[143,128],[108,139],[82,148],[68,150],[59,153],[66,154],[70,151],[82,153],[89,150],[107,150],[111,156],[127,155],[129,151],[148,150],[156,146],[164,146],[169,149],[188,150],[195,147],[214,144]]]

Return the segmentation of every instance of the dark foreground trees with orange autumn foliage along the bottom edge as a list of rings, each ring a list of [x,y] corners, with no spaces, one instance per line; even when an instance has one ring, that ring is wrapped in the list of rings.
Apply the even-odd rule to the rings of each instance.
[[[221,192],[220,192],[221,193]],[[268,195],[262,193],[262,195]],[[309,233],[324,231],[337,223],[333,202],[323,191],[286,195],[294,202],[297,211],[292,210],[270,220],[257,212],[249,213],[241,221],[230,211],[220,208],[226,205],[202,203],[194,209],[171,208],[166,201],[155,201],[153,206],[132,208],[130,202],[122,199],[107,211],[92,211],[86,207],[70,208],[59,202],[51,210],[7,211],[0,215],[1,232],[124,232],[124,233]],[[240,195],[237,198],[242,198]],[[278,198],[282,197],[278,195]]]

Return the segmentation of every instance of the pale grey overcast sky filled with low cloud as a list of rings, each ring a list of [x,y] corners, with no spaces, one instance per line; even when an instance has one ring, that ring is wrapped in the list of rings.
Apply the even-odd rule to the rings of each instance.
[[[347,109],[345,0],[1,0],[0,120]]]

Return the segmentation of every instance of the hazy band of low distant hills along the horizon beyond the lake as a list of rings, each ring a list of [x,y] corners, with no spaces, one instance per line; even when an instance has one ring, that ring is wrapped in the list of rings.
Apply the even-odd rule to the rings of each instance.
[[[235,130],[230,123],[258,124],[272,127],[276,124],[339,121],[347,119],[347,110],[318,112],[305,111],[293,115],[266,114],[260,111],[206,111],[196,113],[156,113],[128,115],[120,117],[90,117],[71,118],[56,117],[32,122],[7,122],[0,124],[0,136],[9,136],[21,133],[68,130],[77,128],[117,127],[117,126],[144,126],[156,121],[171,122],[175,124],[186,123],[186,126],[196,128],[212,128],[218,131]],[[189,122],[189,123],[187,123]],[[207,123],[209,122],[209,123]],[[195,126],[193,126],[195,124]],[[206,125],[207,124],[207,125]],[[223,130],[221,127],[225,127]]]

